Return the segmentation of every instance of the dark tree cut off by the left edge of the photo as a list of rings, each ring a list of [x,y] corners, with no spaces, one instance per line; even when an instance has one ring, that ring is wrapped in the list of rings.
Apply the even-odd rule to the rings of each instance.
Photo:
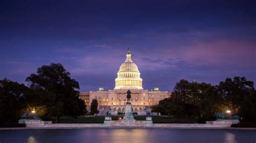
[[[25,111],[24,84],[4,78],[0,80],[0,122],[17,121]]]

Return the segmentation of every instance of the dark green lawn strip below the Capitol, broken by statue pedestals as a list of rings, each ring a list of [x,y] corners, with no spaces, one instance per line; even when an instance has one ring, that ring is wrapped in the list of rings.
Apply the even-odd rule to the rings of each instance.
[[[112,116],[112,120],[118,120],[122,116]],[[59,123],[104,123],[105,117],[85,117],[60,119]],[[146,116],[134,116],[136,120],[146,120]],[[194,119],[173,119],[169,117],[152,116],[153,123],[196,123]]]

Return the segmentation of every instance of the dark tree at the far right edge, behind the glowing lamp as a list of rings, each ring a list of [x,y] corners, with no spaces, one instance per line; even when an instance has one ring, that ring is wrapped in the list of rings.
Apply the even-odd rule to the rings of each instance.
[[[224,99],[224,106],[233,115],[239,115],[244,120],[256,121],[256,94],[253,81],[245,77],[235,76],[233,80],[226,78],[218,85],[218,90]]]

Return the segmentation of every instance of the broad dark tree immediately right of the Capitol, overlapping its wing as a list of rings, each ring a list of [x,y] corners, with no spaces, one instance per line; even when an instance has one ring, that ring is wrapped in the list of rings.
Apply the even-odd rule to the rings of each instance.
[[[152,109],[179,118],[211,119],[219,111],[220,101],[217,88],[211,84],[180,80],[173,88],[172,96],[159,101]]]

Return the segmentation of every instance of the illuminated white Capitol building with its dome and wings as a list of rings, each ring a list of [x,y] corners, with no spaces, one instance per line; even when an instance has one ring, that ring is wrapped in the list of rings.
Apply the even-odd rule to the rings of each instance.
[[[151,112],[151,105],[156,105],[160,100],[170,97],[171,92],[159,91],[158,88],[151,91],[143,89],[142,81],[139,69],[132,61],[130,48],[128,48],[126,60],[117,72],[116,87],[109,91],[99,88],[98,91],[80,92],[79,98],[85,101],[89,111],[92,99],[97,99],[99,116],[105,116],[108,111],[115,115],[117,112],[124,112],[127,102],[126,92],[130,89],[133,112],[145,115],[146,112]]]

